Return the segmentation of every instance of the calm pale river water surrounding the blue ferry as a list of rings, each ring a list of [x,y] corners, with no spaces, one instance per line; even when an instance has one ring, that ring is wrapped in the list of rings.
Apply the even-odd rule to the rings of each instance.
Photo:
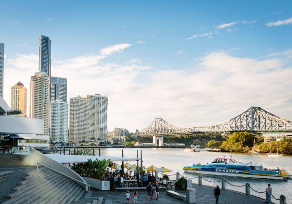
[[[212,162],[218,156],[230,156],[231,153],[217,153],[217,152],[186,152],[184,149],[156,149],[156,148],[124,148],[124,157],[136,157],[136,151],[142,150],[143,155],[143,166],[146,168],[150,165],[156,167],[165,167],[173,170],[175,172],[180,172],[186,177],[196,177],[196,174],[184,173],[183,167],[192,165],[193,163],[207,164]],[[108,156],[122,156],[121,148],[102,148],[101,155]],[[292,168],[292,156],[281,156],[281,157],[268,157],[266,155],[252,155],[248,153],[232,153],[232,158],[241,162],[253,162],[257,164],[263,164],[269,169],[285,169],[291,173]],[[176,176],[171,176],[172,179],[176,179]],[[203,175],[210,181],[218,181],[219,176],[208,176]],[[225,177],[226,181],[237,186],[244,185],[246,182],[250,183],[250,186],[257,191],[265,191],[267,184],[270,183],[273,189],[273,195],[279,198],[281,194],[286,196],[286,202],[292,204],[292,179],[288,181],[274,181],[274,180],[262,180],[262,179],[247,179],[247,178],[236,178],[236,177]],[[193,183],[198,184],[198,179],[193,179]],[[207,181],[202,181],[204,185],[221,187],[221,182],[211,183]],[[240,192],[245,192],[245,187],[233,187],[226,184],[227,189],[236,190]],[[251,189],[251,194],[258,197],[265,197],[264,193],[256,193]],[[274,203],[278,203],[274,198],[272,198]]]

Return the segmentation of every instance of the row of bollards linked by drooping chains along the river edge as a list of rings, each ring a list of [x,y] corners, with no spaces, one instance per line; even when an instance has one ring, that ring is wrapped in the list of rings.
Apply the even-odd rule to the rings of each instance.
[[[225,187],[225,183],[231,185],[231,186],[234,186],[234,187],[245,187],[245,194],[246,195],[250,195],[250,189],[252,189],[253,191],[255,191],[256,193],[266,193],[266,190],[265,191],[257,191],[255,190],[254,188],[252,188],[250,186],[249,183],[245,183],[244,185],[234,185],[234,184],[231,184],[229,182],[227,182],[224,178],[222,178],[221,180],[218,180],[218,181],[210,181],[210,180],[207,180],[205,178],[203,178],[201,176],[201,174],[199,174],[197,177],[186,177],[186,176],[183,176],[182,174],[180,174],[179,172],[177,172],[176,174],[172,174],[172,175],[169,175],[169,176],[173,176],[173,175],[176,175],[176,180],[178,180],[181,177],[184,177],[184,178],[187,178],[187,179],[195,179],[195,178],[198,178],[199,179],[199,185],[202,185],[202,180],[205,180],[207,182],[210,182],[210,183],[218,183],[218,182],[221,182],[221,187],[222,189],[226,189]],[[286,204],[286,197],[284,195],[280,195],[279,198],[276,198],[274,197],[274,195],[272,194],[271,195],[275,200],[279,201],[280,204]]]

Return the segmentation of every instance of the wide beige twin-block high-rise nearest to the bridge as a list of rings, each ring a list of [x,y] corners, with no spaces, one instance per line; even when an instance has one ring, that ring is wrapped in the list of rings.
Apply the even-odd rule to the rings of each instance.
[[[108,97],[70,98],[70,141],[108,138]]]

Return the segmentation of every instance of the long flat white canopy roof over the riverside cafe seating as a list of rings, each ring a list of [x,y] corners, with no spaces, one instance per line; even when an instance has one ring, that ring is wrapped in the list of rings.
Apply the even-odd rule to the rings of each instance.
[[[118,156],[90,156],[90,155],[64,155],[58,153],[46,154],[46,156],[54,159],[59,163],[84,163],[87,159],[94,161],[95,159],[103,160],[110,159],[110,161],[136,161],[137,158],[118,157]],[[139,159],[138,159],[139,160]]]

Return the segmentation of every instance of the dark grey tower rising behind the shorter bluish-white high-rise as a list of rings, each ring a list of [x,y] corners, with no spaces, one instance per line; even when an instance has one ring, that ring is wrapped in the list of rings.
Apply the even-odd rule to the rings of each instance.
[[[67,102],[67,79],[51,77],[51,100]]]

